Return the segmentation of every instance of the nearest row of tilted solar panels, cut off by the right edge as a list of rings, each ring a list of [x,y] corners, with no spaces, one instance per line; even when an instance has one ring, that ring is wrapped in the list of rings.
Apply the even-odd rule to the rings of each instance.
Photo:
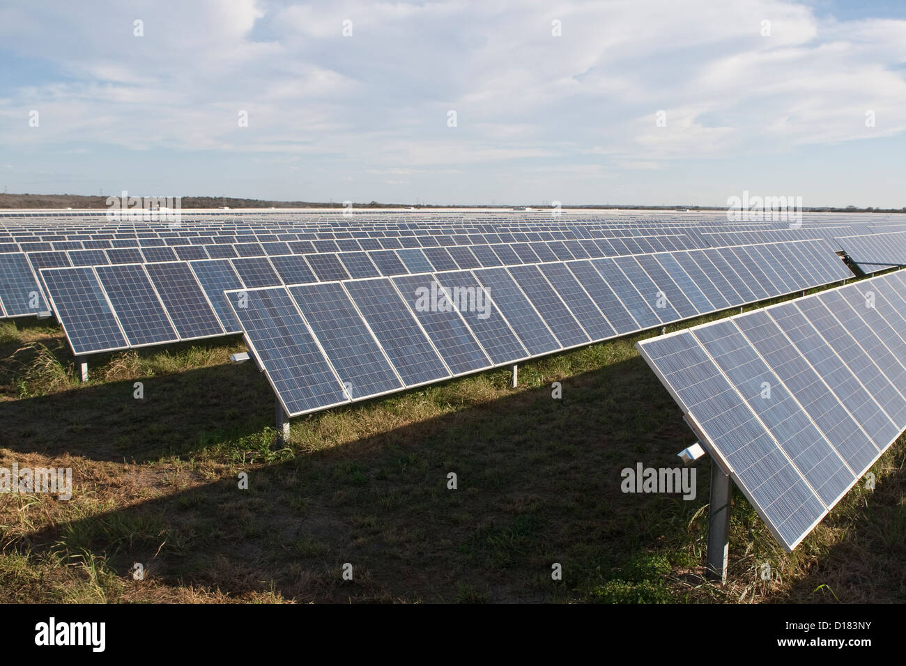
[[[791,551],[906,430],[906,277],[636,345]]]

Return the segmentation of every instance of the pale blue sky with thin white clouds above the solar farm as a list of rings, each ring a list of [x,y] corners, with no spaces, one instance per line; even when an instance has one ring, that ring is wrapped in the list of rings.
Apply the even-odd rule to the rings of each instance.
[[[906,207],[906,3],[0,5],[8,192]]]

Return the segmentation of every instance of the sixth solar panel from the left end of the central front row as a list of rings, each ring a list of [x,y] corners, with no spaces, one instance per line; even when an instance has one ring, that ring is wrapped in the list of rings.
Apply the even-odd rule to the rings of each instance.
[[[529,354],[536,356],[562,348],[506,268],[483,268],[474,275]]]

